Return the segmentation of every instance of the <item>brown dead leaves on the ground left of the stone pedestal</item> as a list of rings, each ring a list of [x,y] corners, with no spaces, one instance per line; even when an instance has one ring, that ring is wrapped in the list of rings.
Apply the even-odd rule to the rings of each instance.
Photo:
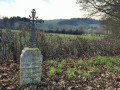
[[[18,78],[16,77],[16,67],[19,66],[17,63],[14,63],[13,60],[10,61],[0,61],[0,90],[15,90],[16,82]],[[18,74],[17,74],[18,75]]]

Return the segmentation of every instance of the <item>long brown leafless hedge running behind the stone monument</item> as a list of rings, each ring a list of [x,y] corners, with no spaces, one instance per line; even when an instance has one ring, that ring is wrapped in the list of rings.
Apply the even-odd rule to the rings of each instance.
[[[2,32],[4,38],[0,42],[0,58],[19,60],[24,47],[29,46],[27,31]],[[112,56],[120,54],[120,39],[86,40],[83,38],[59,37],[57,35],[36,32],[36,47],[44,59]],[[104,61],[104,60],[103,60]]]

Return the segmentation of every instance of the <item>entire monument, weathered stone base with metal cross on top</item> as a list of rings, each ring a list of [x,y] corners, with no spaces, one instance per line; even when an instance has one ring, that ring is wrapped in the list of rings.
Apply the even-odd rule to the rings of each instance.
[[[20,56],[20,85],[30,84],[31,90],[36,90],[36,84],[41,82],[43,56],[38,48],[35,48],[35,9],[30,16],[32,29],[30,33],[30,48],[22,50]]]

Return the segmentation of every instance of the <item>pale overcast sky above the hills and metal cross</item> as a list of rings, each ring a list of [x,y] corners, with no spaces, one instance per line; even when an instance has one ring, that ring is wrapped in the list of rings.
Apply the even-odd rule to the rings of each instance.
[[[39,19],[44,20],[85,17],[76,0],[0,0],[0,17],[28,18],[33,8]]]

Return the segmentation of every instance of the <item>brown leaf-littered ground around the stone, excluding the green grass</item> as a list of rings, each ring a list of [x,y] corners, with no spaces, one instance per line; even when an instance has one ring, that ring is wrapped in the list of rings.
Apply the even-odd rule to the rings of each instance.
[[[69,79],[66,69],[78,67],[70,59],[66,60],[62,73],[51,77],[47,74],[50,65],[47,61],[43,62],[42,83],[37,85],[38,90],[120,90],[120,74],[108,72],[104,66],[99,66],[102,72],[93,73],[92,79],[81,77],[76,72],[76,77]],[[59,59],[56,61],[59,62]],[[29,90],[27,85],[19,86],[19,65],[18,61],[0,60],[0,90]]]

